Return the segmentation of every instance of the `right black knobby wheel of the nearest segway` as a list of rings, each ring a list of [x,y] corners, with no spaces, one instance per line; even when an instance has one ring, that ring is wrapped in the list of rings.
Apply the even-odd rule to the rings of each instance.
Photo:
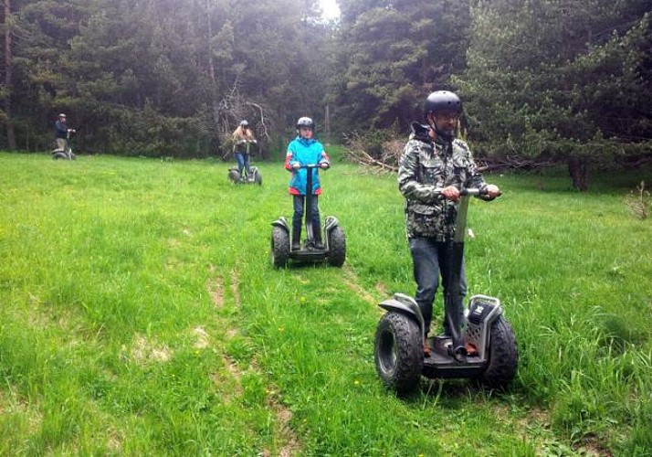
[[[489,366],[478,378],[488,388],[504,390],[516,376],[519,351],[510,324],[501,315],[491,324]]]

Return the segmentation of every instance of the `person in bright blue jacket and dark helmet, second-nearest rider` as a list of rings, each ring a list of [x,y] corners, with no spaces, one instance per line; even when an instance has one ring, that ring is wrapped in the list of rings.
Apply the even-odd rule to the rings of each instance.
[[[293,197],[294,215],[292,217],[292,250],[300,250],[301,219],[308,191],[312,194],[312,227],[315,237],[315,248],[324,249],[321,242],[320,208],[318,196],[321,195],[320,175],[317,168],[301,168],[302,165],[320,165],[327,169],[331,160],[324,151],[323,145],[313,138],[315,124],[309,117],[297,121],[297,137],[289,142],[288,154],[285,156],[285,169],[292,173],[289,180],[289,193]],[[306,189],[308,173],[312,173],[312,188]]]

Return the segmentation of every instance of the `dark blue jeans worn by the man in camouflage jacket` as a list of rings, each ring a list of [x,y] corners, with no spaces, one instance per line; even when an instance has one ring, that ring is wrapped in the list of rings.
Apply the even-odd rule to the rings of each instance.
[[[447,264],[447,244],[429,238],[411,238],[409,242],[416,281],[415,301],[421,309],[421,314],[424,316],[427,335],[430,331],[430,323],[432,322],[433,302],[435,302],[435,293],[439,286],[440,275],[444,286],[444,296],[446,297],[447,281],[450,277]],[[462,271],[459,278],[459,292],[462,296],[467,294],[467,278],[464,270],[464,260],[462,260]],[[461,322],[462,316],[464,315],[464,307],[460,306],[456,310],[456,313],[460,319],[459,322]],[[447,335],[447,333],[445,319],[444,334]]]

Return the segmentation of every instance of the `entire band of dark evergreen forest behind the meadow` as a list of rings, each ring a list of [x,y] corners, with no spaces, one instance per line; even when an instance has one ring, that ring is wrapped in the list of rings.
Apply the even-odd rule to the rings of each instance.
[[[458,90],[489,158],[571,166],[652,156],[648,0],[5,0],[0,145],[43,151],[67,112],[88,153],[224,155],[247,118],[261,153],[302,115],[329,140],[405,135]],[[74,124],[74,125],[73,125]]]

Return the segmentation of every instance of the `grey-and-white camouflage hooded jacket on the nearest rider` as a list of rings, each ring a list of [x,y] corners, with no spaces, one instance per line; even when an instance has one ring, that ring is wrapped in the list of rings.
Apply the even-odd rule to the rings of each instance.
[[[455,232],[457,204],[437,195],[446,186],[482,188],[468,144],[461,140],[433,141],[428,127],[412,123],[412,133],[398,163],[398,188],[405,197],[408,238],[451,239]]]

